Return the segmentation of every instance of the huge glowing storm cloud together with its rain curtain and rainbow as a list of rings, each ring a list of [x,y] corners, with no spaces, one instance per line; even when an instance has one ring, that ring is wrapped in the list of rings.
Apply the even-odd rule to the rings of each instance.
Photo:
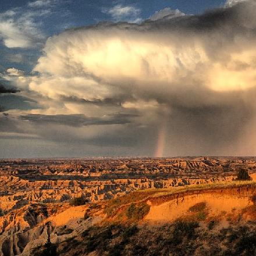
[[[161,13],[48,38],[23,77],[42,108],[19,122],[45,123],[34,130],[44,140],[69,126],[70,141],[125,145],[125,155],[255,155],[256,2]]]

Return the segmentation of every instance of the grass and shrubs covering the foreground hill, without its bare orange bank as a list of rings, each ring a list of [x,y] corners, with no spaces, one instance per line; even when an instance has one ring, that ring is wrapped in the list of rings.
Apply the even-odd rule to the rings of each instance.
[[[106,201],[105,204],[89,204],[84,222],[89,222],[95,212],[102,212],[106,216],[102,222],[88,226],[77,236],[59,244],[51,244],[51,247],[43,250],[41,248],[41,254],[37,251],[34,253],[58,256],[256,255],[255,194],[249,198],[252,203],[248,207],[239,211],[234,209],[232,214],[221,212],[212,215],[207,202],[202,201],[191,206],[186,215],[173,222],[144,221],[144,216],[150,211],[148,200],[183,192],[203,193],[207,189],[239,191],[242,187],[254,191],[256,183],[249,180],[141,190]],[[80,205],[80,199],[76,201]]]

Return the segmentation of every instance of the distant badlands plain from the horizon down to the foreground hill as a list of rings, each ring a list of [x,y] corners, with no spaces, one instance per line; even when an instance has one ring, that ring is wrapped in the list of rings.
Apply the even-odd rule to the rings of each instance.
[[[256,158],[12,159],[0,162],[0,208],[99,201],[138,189],[231,181],[237,168],[256,171]]]

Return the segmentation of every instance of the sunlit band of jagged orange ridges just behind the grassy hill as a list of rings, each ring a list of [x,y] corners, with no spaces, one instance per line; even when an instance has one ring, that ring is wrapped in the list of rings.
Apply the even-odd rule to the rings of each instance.
[[[233,176],[212,177],[211,179],[118,179],[107,181],[83,182],[77,180],[35,181],[30,182],[18,177],[0,177],[0,187],[10,187],[12,195],[2,195],[0,208],[9,212],[29,203],[64,202],[74,196],[86,197],[89,201],[101,201],[125,195],[138,189],[168,189],[169,187],[230,182]],[[16,192],[15,191],[20,191]]]

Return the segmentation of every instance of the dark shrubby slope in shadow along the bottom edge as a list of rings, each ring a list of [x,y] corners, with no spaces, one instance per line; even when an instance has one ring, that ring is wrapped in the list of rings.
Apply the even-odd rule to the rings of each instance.
[[[55,247],[54,247],[55,248]],[[58,246],[56,255],[255,255],[255,223],[216,230],[177,220],[161,226],[112,223],[93,226]]]

